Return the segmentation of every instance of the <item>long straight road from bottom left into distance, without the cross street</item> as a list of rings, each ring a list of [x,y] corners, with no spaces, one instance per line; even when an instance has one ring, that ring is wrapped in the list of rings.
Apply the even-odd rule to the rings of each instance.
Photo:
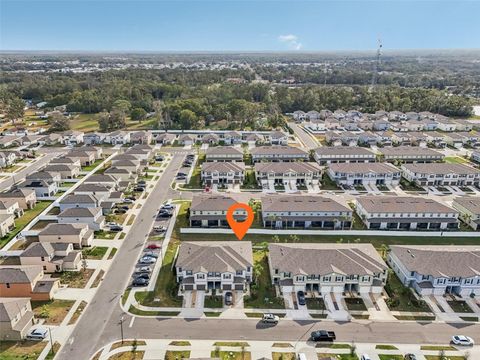
[[[142,206],[92,302],[56,359],[88,359],[96,349],[105,345],[106,337],[103,334],[111,331],[111,328],[118,328],[118,320],[122,314],[120,297],[130,281],[132,269],[142,252],[160,204],[173,197],[170,182],[184,157],[183,154],[173,156],[149,200]]]

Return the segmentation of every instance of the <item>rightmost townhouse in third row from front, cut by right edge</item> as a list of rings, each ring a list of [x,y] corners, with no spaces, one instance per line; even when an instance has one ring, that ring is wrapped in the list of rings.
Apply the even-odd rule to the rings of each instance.
[[[480,184],[480,170],[465,164],[430,163],[402,165],[408,181],[420,186],[469,186]]]

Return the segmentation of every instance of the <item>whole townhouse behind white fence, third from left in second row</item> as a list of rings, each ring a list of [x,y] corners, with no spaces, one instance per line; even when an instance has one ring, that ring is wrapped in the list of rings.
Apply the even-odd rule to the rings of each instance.
[[[455,209],[421,197],[359,197],[356,212],[370,230],[456,230],[459,226]]]

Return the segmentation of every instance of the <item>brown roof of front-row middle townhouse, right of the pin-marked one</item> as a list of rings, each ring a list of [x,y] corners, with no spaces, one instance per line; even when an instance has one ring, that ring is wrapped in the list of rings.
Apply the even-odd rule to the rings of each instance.
[[[373,275],[387,269],[371,244],[270,244],[273,269],[292,275]]]

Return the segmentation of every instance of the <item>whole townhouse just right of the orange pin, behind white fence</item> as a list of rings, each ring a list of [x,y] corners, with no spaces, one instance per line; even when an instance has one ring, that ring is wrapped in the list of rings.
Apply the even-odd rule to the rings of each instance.
[[[262,198],[262,222],[267,228],[350,229],[352,219],[352,209],[321,196]]]

